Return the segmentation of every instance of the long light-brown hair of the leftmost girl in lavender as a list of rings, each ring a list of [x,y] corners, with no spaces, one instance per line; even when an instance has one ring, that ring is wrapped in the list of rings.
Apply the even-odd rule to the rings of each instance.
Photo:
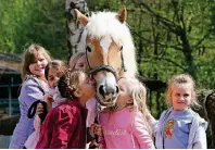
[[[23,53],[22,62],[22,79],[24,80],[26,75],[30,75],[29,65],[36,61],[35,52],[41,52],[48,62],[51,61],[49,52],[41,46],[33,43]]]

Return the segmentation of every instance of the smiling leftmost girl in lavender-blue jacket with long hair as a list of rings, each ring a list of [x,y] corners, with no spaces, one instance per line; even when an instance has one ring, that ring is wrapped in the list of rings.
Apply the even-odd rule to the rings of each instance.
[[[21,118],[16,124],[10,142],[11,149],[24,147],[28,136],[34,132],[34,118],[27,117],[27,111],[37,100],[43,100],[48,89],[45,78],[45,67],[51,61],[48,51],[38,46],[31,45],[24,52],[22,78],[23,84],[18,97]]]

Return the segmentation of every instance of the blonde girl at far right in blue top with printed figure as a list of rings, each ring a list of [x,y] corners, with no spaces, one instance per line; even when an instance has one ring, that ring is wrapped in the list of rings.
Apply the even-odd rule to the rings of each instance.
[[[207,123],[191,110],[197,105],[194,80],[190,75],[173,76],[167,102],[172,107],[160,117],[155,137],[159,149],[206,149]]]

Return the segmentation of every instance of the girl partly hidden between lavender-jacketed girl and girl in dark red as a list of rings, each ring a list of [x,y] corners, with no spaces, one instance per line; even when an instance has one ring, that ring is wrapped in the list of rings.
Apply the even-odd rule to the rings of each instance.
[[[63,75],[64,71],[65,71],[65,64],[59,60],[54,60],[48,63],[45,70],[45,76],[49,84],[49,92],[46,98],[49,109],[51,109],[52,107],[55,108],[60,102],[65,101],[65,99],[60,98],[60,96],[58,96],[59,92],[55,89],[58,80]],[[39,140],[39,133],[41,126],[41,118],[39,117],[39,115],[43,113],[43,109],[45,109],[42,105],[39,104],[37,107],[38,108],[37,115],[35,116],[35,121],[34,121],[35,132],[28,137],[28,139],[25,142],[25,148],[27,149],[35,149]],[[41,109],[39,109],[39,107]]]

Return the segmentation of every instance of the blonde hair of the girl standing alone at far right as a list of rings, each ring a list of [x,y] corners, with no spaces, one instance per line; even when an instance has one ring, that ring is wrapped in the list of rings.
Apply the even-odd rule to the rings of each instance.
[[[179,85],[182,85],[182,84],[190,84],[191,85],[191,105],[195,107],[195,108],[200,108],[201,105],[195,100],[195,98],[197,98],[195,83],[194,83],[193,78],[188,74],[174,75],[168,80],[168,87],[167,87],[167,92],[166,92],[166,99],[167,99],[168,104],[170,107],[173,105],[172,95],[173,95],[174,88],[176,86],[179,86]]]

